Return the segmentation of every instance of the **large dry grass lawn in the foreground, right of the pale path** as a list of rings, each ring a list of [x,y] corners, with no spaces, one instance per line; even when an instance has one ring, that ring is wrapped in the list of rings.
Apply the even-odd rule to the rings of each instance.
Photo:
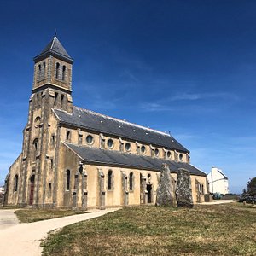
[[[126,207],[64,227],[43,255],[256,255],[256,208]]]

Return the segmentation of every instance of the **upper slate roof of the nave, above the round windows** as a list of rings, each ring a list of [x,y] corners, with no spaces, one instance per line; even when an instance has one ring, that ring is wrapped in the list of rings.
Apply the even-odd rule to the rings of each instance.
[[[67,113],[59,109],[54,109],[54,112],[58,119],[60,119],[60,122],[67,125],[83,127],[90,131],[98,131],[139,143],[148,143],[189,153],[189,150],[178,143],[174,137],[161,131],[155,131],[141,125],[135,125],[78,107],[73,107],[73,113]]]

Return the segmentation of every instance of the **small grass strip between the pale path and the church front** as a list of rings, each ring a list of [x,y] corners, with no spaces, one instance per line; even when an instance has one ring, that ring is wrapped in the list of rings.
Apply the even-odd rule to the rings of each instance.
[[[20,222],[30,223],[50,218],[61,218],[74,214],[86,213],[84,211],[59,210],[59,209],[31,209],[25,208],[15,211]]]

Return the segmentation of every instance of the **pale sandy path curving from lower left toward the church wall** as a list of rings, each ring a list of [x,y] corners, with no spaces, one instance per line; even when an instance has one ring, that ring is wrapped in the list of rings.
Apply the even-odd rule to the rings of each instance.
[[[96,218],[118,209],[95,210],[63,218],[53,218],[30,224],[18,224],[15,210],[0,210],[0,255],[39,256],[42,252],[40,240],[50,230],[60,229],[68,224]],[[3,227],[2,227],[3,226]]]

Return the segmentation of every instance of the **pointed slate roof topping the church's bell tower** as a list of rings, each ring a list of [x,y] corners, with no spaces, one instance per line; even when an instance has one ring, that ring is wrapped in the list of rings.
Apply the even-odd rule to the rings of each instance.
[[[63,61],[67,61],[68,63],[73,63],[73,59],[70,55],[68,55],[67,50],[62,46],[61,42],[56,36],[52,38],[52,40],[49,42],[49,44],[46,45],[42,52],[34,58],[34,61],[42,61],[49,55],[53,55]]]

